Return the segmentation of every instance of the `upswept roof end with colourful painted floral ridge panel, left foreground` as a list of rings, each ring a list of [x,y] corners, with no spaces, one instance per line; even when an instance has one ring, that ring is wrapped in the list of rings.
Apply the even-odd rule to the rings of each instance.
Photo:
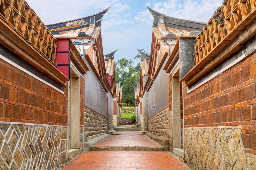
[[[79,18],[75,20],[65,21],[57,24],[47,25],[53,34],[61,33],[62,36],[68,37],[92,37],[96,39],[100,35],[101,20],[110,6],[94,15]],[[54,31],[57,31],[54,33]]]

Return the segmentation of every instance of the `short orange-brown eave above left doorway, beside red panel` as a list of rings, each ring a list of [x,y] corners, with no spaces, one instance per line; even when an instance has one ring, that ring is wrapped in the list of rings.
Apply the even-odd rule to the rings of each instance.
[[[84,59],[81,57],[79,52],[77,51],[74,43],[70,40],[70,53],[72,59],[75,61],[78,68],[84,73],[87,74],[87,71],[89,71],[88,66],[84,62]]]

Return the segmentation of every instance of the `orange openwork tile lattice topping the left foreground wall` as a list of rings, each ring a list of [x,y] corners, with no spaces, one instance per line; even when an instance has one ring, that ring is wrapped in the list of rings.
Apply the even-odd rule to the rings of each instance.
[[[0,19],[55,67],[57,40],[26,1],[2,0]]]

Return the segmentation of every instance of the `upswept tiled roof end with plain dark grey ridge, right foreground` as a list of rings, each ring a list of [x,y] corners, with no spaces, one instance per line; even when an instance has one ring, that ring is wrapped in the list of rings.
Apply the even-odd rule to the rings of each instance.
[[[156,12],[148,7],[153,15],[153,32],[157,38],[178,38],[193,31],[201,31],[205,23],[173,18]],[[190,31],[186,31],[190,30]]]

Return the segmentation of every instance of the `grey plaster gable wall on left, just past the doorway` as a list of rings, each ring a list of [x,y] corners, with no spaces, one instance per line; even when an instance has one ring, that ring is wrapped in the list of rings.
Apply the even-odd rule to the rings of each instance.
[[[93,111],[107,116],[107,94],[100,85],[100,80],[92,70],[87,59],[85,63],[89,67],[89,71],[85,74],[85,106]],[[99,106],[99,90],[100,90],[100,106]]]

